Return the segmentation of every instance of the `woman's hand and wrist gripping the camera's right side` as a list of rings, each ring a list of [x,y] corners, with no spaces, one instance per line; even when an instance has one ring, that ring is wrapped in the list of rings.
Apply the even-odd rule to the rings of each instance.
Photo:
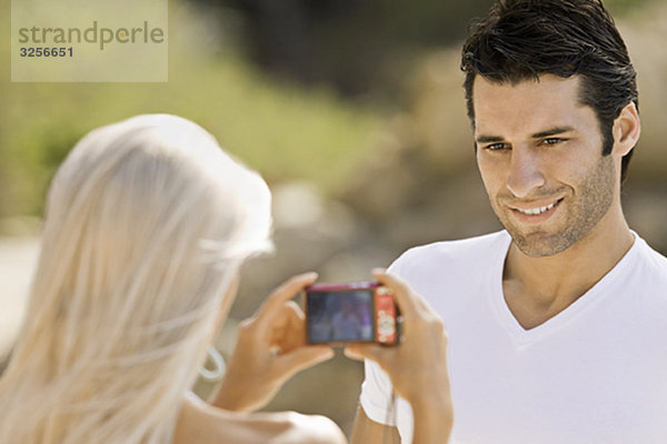
[[[394,291],[404,319],[401,342],[397,346],[354,344],[345,353],[375,361],[389,375],[396,393],[412,407],[415,444],[445,443],[454,412],[442,321],[400,278],[379,270],[374,276]]]

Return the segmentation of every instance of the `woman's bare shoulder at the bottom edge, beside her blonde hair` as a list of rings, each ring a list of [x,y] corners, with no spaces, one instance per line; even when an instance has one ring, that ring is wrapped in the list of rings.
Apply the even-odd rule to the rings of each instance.
[[[187,400],[173,444],[346,444],[329,418],[296,412],[236,413]]]

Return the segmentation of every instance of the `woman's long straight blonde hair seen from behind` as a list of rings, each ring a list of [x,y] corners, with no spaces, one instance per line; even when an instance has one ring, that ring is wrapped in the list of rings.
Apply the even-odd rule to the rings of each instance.
[[[266,183],[188,120],[86,135],[49,191],[0,443],[170,442],[226,290],[270,248],[270,223]]]

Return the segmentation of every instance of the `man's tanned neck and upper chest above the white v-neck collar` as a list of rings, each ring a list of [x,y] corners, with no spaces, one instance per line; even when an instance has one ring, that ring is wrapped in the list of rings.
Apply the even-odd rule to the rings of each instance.
[[[634,243],[623,214],[600,223],[565,251],[544,258],[524,254],[512,242],[502,286],[507,304],[525,327],[537,326],[590,290]],[[613,223],[616,222],[616,223]]]

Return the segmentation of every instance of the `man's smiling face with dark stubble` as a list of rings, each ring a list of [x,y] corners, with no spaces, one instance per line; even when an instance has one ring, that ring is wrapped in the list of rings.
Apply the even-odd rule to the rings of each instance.
[[[566,250],[618,202],[618,165],[603,157],[595,111],[578,92],[576,77],[475,80],[477,164],[496,215],[529,256]]]

